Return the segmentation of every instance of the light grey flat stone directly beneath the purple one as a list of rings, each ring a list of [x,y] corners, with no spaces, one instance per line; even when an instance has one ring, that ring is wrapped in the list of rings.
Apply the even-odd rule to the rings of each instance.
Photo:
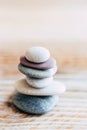
[[[22,64],[18,65],[18,69],[23,74],[33,77],[33,78],[47,78],[53,76],[57,72],[57,66],[48,70],[36,70],[23,66]]]

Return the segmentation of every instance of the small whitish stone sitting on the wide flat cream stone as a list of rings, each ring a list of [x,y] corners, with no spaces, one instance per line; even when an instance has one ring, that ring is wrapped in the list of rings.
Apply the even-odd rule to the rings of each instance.
[[[52,83],[53,77],[44,78],[44,79],[35,79],[35,78],[26,77],[26,81],[30,86],[34,88],[43,88],[43,87],[47,87],[47,85]]]

